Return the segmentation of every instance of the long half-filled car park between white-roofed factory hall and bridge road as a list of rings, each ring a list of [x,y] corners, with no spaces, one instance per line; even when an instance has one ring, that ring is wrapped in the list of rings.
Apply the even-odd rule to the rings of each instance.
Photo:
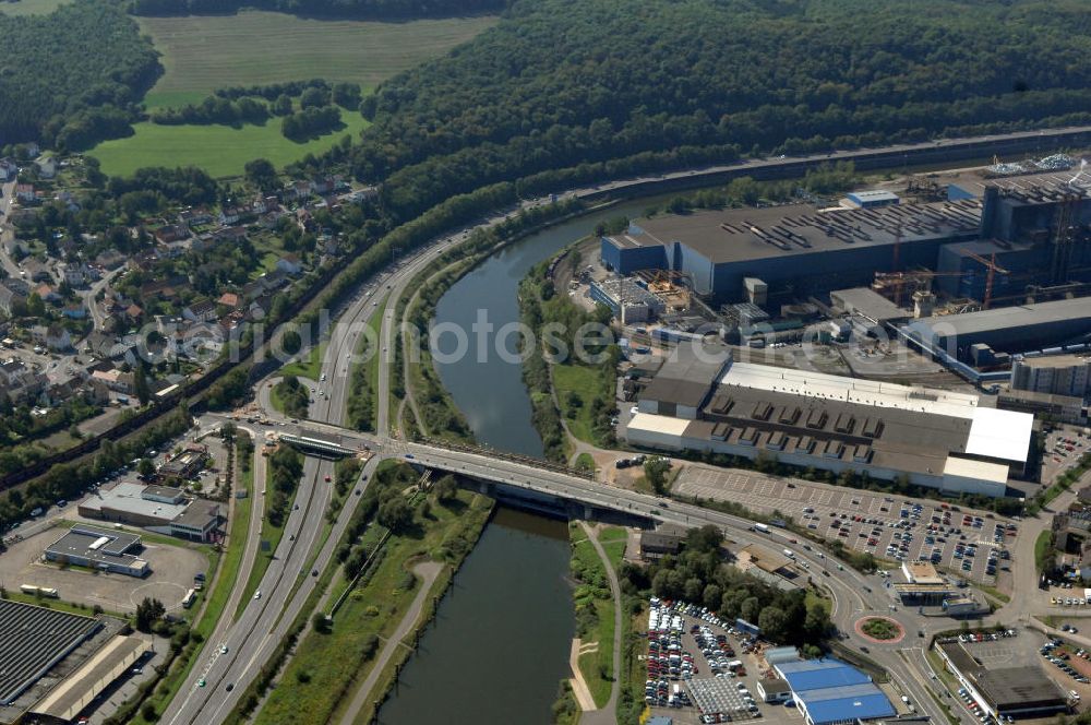
[[[752,471],[688,465],[674,494],[736,501],[792,516],[816,536],[890,561],[932,561],[963,579],[995,585],[1009,570],[1018,524],[991,512]]]

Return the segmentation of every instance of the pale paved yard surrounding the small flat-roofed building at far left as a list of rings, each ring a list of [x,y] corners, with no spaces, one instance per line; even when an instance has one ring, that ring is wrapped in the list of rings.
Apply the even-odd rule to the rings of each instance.
[[[144,579],[72,567],[62,569],[41,561],[43,550],[64,533],[62,526],[58,524],[10,544],[0,555],[0,581],[9,590],[19,591],[23,584],[56,589],[64,602],[98,605],[119,614],[131,613],[144,597],[153,597],[171,611],[181,608],[194,575],[208,570],[208,559],[199,549],[181,540],[177,546],[160,543],[158,537],[149,542],[139,530],[128,531],[144,536],[140,556],[152,570]]]

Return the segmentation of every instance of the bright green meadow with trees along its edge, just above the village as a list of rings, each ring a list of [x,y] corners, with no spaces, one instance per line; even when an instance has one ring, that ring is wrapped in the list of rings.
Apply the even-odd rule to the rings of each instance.
[[[307,154],[331,148],[346,135],[353,139],[368,126],[359,114],[341,112],[345,128],[327,135],[296,143],[280,133],[280,123],[264,126],[157,126],[137,123],[135,135],[104,141],[88,152],[110,176],[130,176],[145,166],[197,166],[217,178],[241,176],[247,162],[267,158],[283,167]]]

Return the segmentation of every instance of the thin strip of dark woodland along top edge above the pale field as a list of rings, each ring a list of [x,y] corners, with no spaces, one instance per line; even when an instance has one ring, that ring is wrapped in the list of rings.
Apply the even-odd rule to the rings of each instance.
[[[136,15],[212,15],[242,8],[315,17],[445,17],[496,12],[507,0],[133,0]]]

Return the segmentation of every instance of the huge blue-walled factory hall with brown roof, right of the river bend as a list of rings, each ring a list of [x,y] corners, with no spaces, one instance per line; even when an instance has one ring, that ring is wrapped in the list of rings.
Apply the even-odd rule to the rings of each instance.
[[[894,245],[906,266],[936,264],[939,248],[978,238],[975,200],[817,212],[775,206],[696,212],[631,225],[603,237],[602,262],[621,274],[659,269],[685,273],[698,294],[743,298],[743,278],[796,294],[872,283],[891,269]]]

